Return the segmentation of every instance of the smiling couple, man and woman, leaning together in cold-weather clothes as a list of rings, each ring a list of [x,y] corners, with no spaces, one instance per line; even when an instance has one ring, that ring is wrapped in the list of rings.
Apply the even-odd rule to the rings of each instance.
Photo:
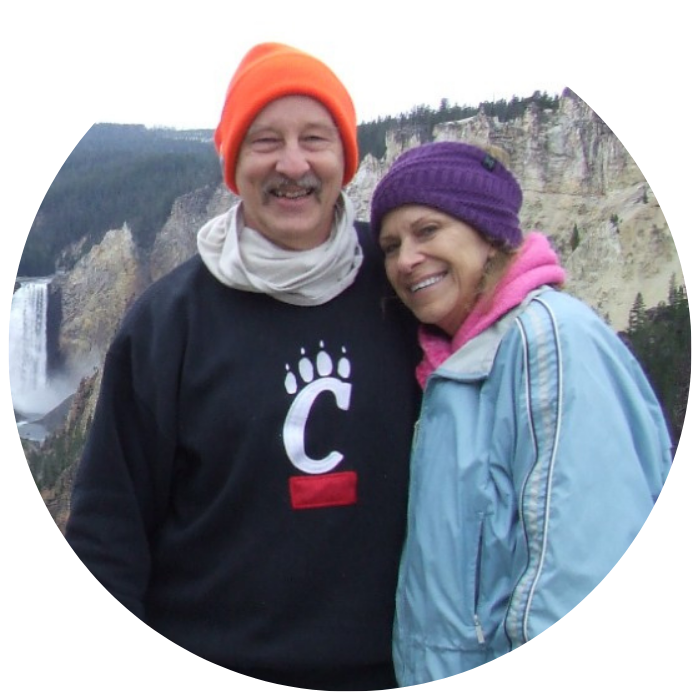
[[[280,44],[243,59],[215,144],[240,202],[110,348],[77,556],[166,639],[295,688],[428,683],[546,630],[671,452],[636,362],[521,232],[512,174],[420,146],[355,222],[351,98]]]

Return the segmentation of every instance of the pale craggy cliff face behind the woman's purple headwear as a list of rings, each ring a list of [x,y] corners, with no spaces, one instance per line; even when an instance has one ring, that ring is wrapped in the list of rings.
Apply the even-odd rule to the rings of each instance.
[[[619,330],[637,293],[647,307],[665,301],[672,278],[684,284],[676,246],[648,180],[622,142],[575,93],[558,110],[534,104],[506,123],[483,113],[435,127],[438,141],[491,144],[508,155],[523,189],[522,228],[547,234],[568,271],[568,291]],[[379,161],[366,158],[348,192],[367,218],[371,193],[420,134],[390,134]]]

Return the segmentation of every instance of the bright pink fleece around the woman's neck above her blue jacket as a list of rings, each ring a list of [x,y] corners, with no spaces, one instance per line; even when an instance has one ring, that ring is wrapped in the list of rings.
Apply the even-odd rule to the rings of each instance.
[[[476,303],[454,337],[440,335],[429,326],[420,326],[418,340],[423,348],[423,359],[416,368],[420,385],[425,388],[428,375],[465,343],[518,306],[531,291],[544,284],[561,285],[565,276],[547,238],[541,233],[527,236],[492,298]]]

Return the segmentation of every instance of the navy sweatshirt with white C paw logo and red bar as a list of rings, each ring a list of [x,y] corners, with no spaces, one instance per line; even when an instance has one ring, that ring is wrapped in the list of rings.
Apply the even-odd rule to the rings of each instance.
[[[252,678],[394,686],[391,629],[419,391],[381,256],[299,307],[195,257],[108,353],[66,539],[156,632]]]

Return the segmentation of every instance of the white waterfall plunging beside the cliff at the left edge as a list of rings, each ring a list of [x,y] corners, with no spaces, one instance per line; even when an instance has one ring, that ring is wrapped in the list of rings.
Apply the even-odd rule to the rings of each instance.
[[[8,331],[10,394],[15,411],[25,417],[42,415],[48,385],[46,317],[49,279],[21,283],[12,295]]]

